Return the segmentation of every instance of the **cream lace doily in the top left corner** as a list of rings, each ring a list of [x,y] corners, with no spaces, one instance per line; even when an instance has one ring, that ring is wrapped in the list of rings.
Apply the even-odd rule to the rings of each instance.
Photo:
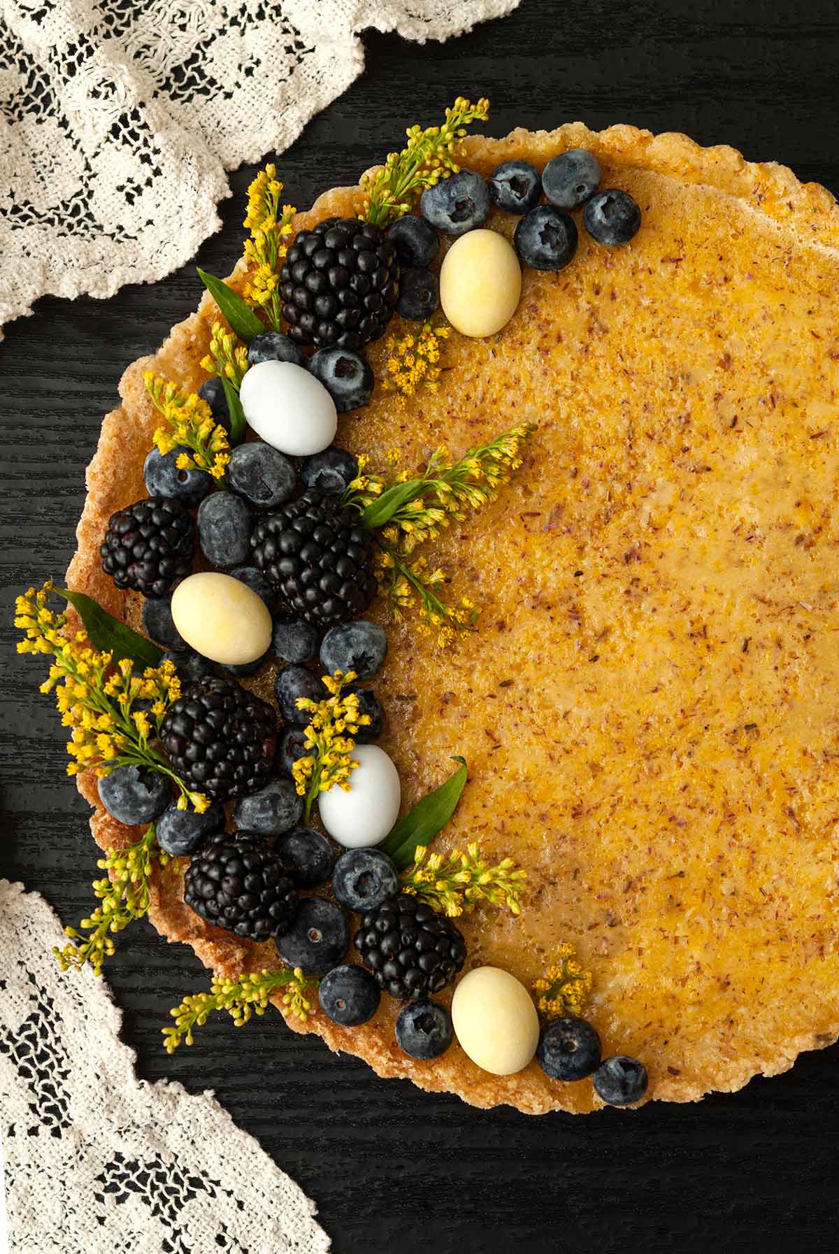
[[[357,31],[446,39],[517,4],[0,0],[0,327],[188,261],[224,171],[282,152],[359,76]]]

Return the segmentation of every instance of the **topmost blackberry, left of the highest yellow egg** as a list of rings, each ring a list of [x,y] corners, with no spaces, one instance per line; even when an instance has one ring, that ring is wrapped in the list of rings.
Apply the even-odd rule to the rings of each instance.
[[[288,248],[280,295],[295,344],[360,349],[379,339],[394,312],[396,250],[370,222],[327,218]]]

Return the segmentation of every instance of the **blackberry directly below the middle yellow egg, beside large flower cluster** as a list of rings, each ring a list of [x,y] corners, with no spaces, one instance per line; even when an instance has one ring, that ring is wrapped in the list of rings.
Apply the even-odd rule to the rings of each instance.
[[[206,676],[187,683],[172,702],[161,741],[189,788],[213,801],[247,796],[271,777],[275,712],[233,680]]]

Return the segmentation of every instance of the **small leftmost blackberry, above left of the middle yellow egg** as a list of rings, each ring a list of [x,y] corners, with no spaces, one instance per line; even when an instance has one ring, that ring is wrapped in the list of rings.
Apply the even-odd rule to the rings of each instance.
[[[99,549],[102,569],[118,588],[167,597],[176,581],[189,574],[194,544],[196,527],[186,505],[169,497],[149,497],[108,519]]]

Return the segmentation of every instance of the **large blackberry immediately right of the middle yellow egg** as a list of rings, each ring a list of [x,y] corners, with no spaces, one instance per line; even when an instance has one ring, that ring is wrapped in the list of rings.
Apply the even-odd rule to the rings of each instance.
[[[262,574],[307,622],[346,622],[372,599],[370,537],[337,497],[311,489],[290,500],[257,523],[251,548]]]

